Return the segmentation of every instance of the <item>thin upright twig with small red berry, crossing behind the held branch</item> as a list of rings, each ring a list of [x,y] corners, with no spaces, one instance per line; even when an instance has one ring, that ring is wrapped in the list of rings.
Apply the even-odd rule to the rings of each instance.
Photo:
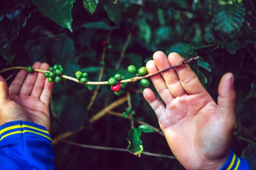
[[[112,30],[110,30],[109,33],[108,33],[107,43],[109,43],[111,33],[112,33]],[[106,49],[107,49],[107,46],[104,46],[103,47],[102,56],[101,56],[101,62],[105,61]],[[98,82],[100,82],[101,79],[102,79],[103,71],[104,71],[104,66],[101,66],[101,72],[99,73]],[[92,107],[92,104],[94,103],[94,100],[95,100],[96,96],[98,95],[99,87],[100,87],[100,85],[97,85],[96,91],[94,91],[92,99],[91,99],[90,103],[88,104],[86,110],[90,110],[90,108]]]

